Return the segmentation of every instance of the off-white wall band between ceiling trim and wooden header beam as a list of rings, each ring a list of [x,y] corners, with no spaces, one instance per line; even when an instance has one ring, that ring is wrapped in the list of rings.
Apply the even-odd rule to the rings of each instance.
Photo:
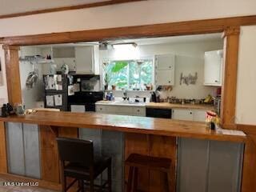
[[[255,0],[149,0],[0,19],[0,37],[248,14],[256,14]]]

